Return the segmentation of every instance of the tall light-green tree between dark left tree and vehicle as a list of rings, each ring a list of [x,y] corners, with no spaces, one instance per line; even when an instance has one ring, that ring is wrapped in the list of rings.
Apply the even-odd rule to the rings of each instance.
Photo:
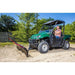
[[[27,42],[32,35],[32,27],[36,22],[37,13],[21,13],[19,17],[19,22],[17,22],[18,30],[13,32],[13,36],[19,38],[19,41]],[[37,16],[38,17],[38,16]]]

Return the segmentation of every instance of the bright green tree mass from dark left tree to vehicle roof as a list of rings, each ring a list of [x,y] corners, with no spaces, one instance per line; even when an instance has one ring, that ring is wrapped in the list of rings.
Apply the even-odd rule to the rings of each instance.
[[[21,13],[18,16],[20,21],[17,22],[17,30],[12,32],[16,41],[28,42],[31,35],[40,31],[43,23],[54,20],[52,18],[38,19],[38,16],[38,13]]]

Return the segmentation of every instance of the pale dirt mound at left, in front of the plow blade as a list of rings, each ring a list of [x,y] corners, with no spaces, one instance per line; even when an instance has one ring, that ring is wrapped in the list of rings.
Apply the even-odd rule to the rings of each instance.
[[[24,59],[26,59],[26,55],[17,50],[15,45],[0,48],[0,61],[21,61]]]

